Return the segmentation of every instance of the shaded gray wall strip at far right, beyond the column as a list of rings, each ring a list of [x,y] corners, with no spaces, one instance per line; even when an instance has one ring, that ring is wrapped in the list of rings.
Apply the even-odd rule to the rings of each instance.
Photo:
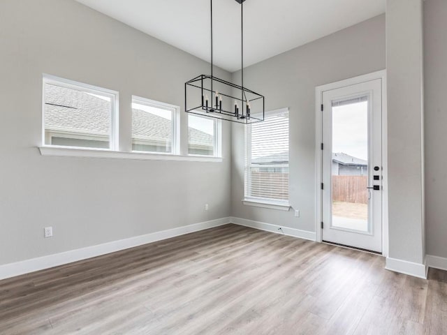
[[[447,258],[447,1],[425,0],[424,12],[426,250]]]

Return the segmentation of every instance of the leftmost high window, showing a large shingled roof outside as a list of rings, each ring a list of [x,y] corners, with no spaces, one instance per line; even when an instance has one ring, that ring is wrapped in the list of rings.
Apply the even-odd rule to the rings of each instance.
[[[43,142],[45,145],[116,149],[115,105],[118,93],[45,76]]]

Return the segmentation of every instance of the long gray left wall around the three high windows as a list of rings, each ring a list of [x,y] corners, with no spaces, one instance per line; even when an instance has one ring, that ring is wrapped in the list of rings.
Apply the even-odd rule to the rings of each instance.
[[[37,149],[42,73],[119,91],[129,139],[132,94],[183,106],[184,82],[209,73],[207,63],[71,0],[0,1],[0,57],[0,265],[230,216],[228,124],[223,163]],[[44,239],[49,225],[54,237]]]

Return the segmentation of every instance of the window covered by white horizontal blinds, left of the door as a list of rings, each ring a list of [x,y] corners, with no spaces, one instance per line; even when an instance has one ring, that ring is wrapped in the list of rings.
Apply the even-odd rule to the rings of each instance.
[[[245,198],[288,202],[288,109],[246,128]]]

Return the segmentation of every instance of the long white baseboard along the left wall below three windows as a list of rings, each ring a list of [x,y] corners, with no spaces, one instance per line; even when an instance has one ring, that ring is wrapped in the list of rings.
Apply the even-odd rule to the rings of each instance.
[[[105,244],[98,244],[97,246],[88,246],[87,248],[80,248],[39,258],[31,258],[30,260],[23,260],[21,262],[0,265],[0,280],[48,269],[50,267],[65,265],[71,262],[77,262],[78,260],[105,255],[106,253],[114,253],[115,251],[141,246],[142,244],[188,234],[189,232],[198,232],[200,230],[218,227],[219,225],[226,225],[228,223],[230,223],[230,218],[218,218],[217,220],[185,225],[184,227],[162,230],[161,232],[152,232],[150,234],[131,237],[129,239],[120,239]]]

